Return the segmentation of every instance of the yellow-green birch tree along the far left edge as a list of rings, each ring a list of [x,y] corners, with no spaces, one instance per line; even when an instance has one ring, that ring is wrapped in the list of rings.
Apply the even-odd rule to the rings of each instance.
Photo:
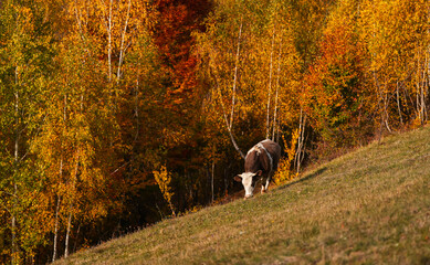
[[[49,226],[43,174],[32,159],[33,137],[44,123],[44,99],[49,85],[50,38],[42,30],[43,10],[34,2],[6,1],[0,10],[0,205],[9,220],[3,250],[11,264],[31,261],[35,246],[44,241]],[[42,11],[42,12],[41,12]],[[46,65],[48,64],[48,65]]]

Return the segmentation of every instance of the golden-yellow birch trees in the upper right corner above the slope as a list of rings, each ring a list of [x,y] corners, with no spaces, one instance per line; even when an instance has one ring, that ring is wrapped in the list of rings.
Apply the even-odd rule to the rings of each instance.
[[[422,63],[428,47],[428,3],[364,1],[360,14],[360,38],[369,51],[380,117],[379,134],[382,128],[390,132],[408,121],[422,124],[427,105],[422,96],[427,94]]]

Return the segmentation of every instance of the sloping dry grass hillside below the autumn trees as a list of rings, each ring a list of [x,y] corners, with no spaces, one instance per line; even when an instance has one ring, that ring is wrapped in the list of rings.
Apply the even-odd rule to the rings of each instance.
[[[430,128],[59,264],[430,264]]]

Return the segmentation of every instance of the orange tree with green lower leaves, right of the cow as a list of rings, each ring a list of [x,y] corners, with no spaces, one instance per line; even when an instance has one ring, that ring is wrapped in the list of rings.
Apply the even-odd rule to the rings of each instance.
[[[366,55],[353,22],[344,18],[328,25],[319,56],[305,78],[312,126],[331,148],[360,144],[373,129],[367,119],[370,109],[364,68]]]

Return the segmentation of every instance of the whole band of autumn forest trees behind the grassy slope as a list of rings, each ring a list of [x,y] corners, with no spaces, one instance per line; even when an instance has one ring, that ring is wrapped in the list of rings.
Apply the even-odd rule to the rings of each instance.
[[[426,0],[0,1],[0,263],[45,263],[428,121]]]

